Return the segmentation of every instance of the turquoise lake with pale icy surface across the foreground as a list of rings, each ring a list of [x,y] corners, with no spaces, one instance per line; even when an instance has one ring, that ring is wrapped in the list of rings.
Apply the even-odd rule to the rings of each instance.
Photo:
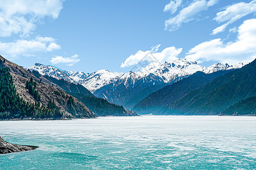
[[[0,169],[256,169],[256,117],[141,116],[1,121]]]

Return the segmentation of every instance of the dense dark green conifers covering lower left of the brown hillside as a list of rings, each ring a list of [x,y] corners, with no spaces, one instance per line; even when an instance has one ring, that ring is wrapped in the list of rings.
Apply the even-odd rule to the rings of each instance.
[[[29,89],[33,92],[33,96],[37,99],[34,104],[30,104],[20,98],[16,92],[13,76],[7,67],[3,66],[0,59],[0,118],[19,118],[19,117],[59,117],[63,114],[60,112],[56,105],[52,105],[49,101],[47,107],[40,105],[40,95],[38,91],[34,90],[33,86]],[[28,81],[29,84],[36,84],[32,80]],[[28,83],[27,83],[28,84]],[[29,85],[28,85],[29,86]]]

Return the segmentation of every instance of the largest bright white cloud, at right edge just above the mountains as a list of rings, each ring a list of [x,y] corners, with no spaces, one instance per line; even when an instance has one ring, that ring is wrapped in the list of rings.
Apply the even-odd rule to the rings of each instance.
[[[256,58],[256,19],[245,20],[237,32],[236,41],[206,41],[189,50],[185,58],[199,62],[217,61],[230,64],[252,61]]]

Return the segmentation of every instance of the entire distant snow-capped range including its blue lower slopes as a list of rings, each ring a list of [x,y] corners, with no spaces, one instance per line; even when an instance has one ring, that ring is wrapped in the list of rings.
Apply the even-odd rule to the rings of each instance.
[[[42,75],[52,76],[56,79],[79,83],[95,96],[131,109],[152,92],[186,78],[196,73],[196,71],[209,74],[219,70],[238,69],[243,65],[245,63],[234,66],[216,63],[215,65],[204,67],[198,65],[196,61],[176,59],[155,68],[137,73],[130,71],[124,74],[109,70],[98,70],[91,74],[82,71],[61,71],[56,67],[44,66],[38,63],[35,66],[27,67],[27,69],[39,71]]]

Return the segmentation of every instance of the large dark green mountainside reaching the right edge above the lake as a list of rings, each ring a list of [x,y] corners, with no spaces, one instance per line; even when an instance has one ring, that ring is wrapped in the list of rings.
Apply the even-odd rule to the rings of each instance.
[[[238,101],[256,95],[256,59],[241,69],[219,76],[199,90],[175,100],[166,114],[220,114]]]

